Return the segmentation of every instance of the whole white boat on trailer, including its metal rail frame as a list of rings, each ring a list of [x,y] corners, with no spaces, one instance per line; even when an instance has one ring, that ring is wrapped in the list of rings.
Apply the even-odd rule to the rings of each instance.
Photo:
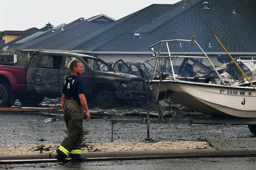
[[[191,45],[196,44],[204,56],[171,55],[168,42],[177,41],[191,42]],[[164,56],[163,52],[160,56],[163,44],[166,44],[167,56]],[[159,47],[158,52],[154,51],[154,47]],[[209,57],[193,38],[192,40],[164,40],[152,45],[149,49],[152,51],[153,58],[146,60],[146,62],[154,68],[153,78],[149,80],[149,83],[154,84],[157,88],[156,102],[171,97],[172,100],[184,106],[208,115],[256,118],[256,92],[254,88],[226,85]],[[177,58],[206,59],[216,76],[185,77],[181,74],[175,74],[172,61]],[[161,70],[160,62],[164,59],[169,59],[171,74],[165,74]],[[153,60],[155,60],[154,65],[151,64]]]

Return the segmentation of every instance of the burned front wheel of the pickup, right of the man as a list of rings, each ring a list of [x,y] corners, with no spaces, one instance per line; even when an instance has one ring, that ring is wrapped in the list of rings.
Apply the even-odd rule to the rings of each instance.
[[[100,108],[113,108],[115,106],[116,97],[110,90],[101,90],[97,95],[96,102]]]

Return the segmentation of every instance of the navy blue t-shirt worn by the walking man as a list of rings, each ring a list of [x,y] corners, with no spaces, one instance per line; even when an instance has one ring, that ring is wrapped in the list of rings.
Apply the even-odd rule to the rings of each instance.
[[[77,77],[75,75],[70,75],[68,78],[74,78]],[[62,93],[65,94],[65,83],[66,80],[63,82],[63,88],[62,88]],[[73,99],[75,101],[79,101],[79,96],[78,94],[84,94],[84,82],[81,78],[77,77],[74,78],[74,82],[72,84],[72,92],[73,92]],[[70,98],[69,96],[70,92],[69,89],[67,89],[67,94],[65,94],[65,97]]]

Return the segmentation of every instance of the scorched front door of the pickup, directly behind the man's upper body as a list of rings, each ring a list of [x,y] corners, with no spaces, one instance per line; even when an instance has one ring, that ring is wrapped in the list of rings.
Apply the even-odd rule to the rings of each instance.
[[[72,55],[67,55],[65,58],[65,64],[63,66],[63,70],[61,72],[61,85],[63,87],[63,82],[66,80],[66,78],[71,74],[70,70],[70,63],[73,60],[78,60],[81,62],[83,66],[83,73],[79,75],[79,77],[84,81],[85,87],[84,87],[84,92],[85,92],[85,97],[90,95],[91,92],[91,78],[92,78],[92,70],[88,67],[87,64],[85,64],[84,60],[78,59],[76,56]],[[61,91],[62,92],[62,88]]]

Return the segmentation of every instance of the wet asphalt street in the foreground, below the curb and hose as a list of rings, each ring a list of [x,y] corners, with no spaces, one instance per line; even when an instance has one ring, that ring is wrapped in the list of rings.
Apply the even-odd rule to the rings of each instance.
[[[102,161],[86,163],[40,163],[40,164],[11,164],[15,169],[105,169],[105,170],[164,170],[164,169],[255,169],[256,158],[190,158],[190,159],[151,159],[135,161]],[[4,168],[6,165],[0,167]]]

